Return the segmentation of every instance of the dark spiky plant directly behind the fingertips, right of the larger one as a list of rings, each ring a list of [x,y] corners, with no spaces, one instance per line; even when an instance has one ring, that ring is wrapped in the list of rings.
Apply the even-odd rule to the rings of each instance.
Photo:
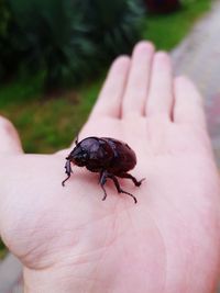
[[[89,37],[98,47],[99,59],[112,60],[129,54],[141,38],[143,7],[139,0],[78,0],[89,27]]]

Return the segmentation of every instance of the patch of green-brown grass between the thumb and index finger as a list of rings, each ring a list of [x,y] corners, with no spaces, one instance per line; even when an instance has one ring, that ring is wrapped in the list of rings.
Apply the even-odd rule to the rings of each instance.
[[[74,139],[95,103],[100,82],[48,98],[42,94],[40,78],[16,81],[0,88],[0,114],[14,123],[25,151],[53,153]]]

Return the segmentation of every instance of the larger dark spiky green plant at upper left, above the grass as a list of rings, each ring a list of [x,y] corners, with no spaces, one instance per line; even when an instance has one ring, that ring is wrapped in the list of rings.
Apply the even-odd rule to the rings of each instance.
[[[84,60],[94,53],[85,38],[81,13],[74,1],[9,0],[14,23],[11,27],[12,47],[19,52],[20,68],[45,70],[47,88],[65,87],[73,79],[78,82]],[[86,68],[85,68],[86,75]]]

